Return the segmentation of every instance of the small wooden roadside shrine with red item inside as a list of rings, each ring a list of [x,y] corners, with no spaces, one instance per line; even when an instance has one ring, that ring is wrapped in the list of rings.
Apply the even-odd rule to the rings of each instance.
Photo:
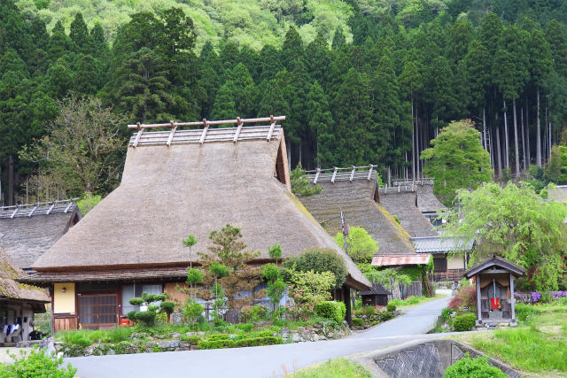
[[[516,326],[514,279],[524,268],[493,255],[464,272],[477,286],[477,326],[508,323]]]

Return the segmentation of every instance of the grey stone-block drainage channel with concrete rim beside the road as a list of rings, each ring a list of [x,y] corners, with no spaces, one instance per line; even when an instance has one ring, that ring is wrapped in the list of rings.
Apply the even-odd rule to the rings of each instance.
[[[470,346],[454,340],[416,340],[391,348],[370,351],[351,359],[367,367],[375,377],[428,377],[440,378],[445,369],[469,352],[470,357],[485,356]],[[497,359],[489,363],[501,369],[509,377],[522,376],[517,370]]]

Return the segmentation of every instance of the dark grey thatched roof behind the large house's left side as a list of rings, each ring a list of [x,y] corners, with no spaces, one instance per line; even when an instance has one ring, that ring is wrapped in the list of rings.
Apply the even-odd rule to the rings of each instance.
[[[16,266],[29,269],[80,219],[73,201],[0,207],[0,246]]]

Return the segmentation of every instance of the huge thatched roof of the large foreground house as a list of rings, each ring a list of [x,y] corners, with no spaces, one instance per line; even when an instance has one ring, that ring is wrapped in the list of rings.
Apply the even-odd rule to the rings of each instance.
[[[269,259],[268,247],[275,243],[284,258],[308,248],[330,248],[345,258],[347,283],[369,287],[287,189],[283,130],[269,129],[253,127],[257,136],[237,143],[236,127],[223,128],[222,135],[202,144],[186,132],[184,140],[175,136],[169,147],[163,132],[145,132],[136,148],[136,140],[131,141],[120,186],[35,262],[36,282],[48,272],[113,269],[120,280],[129,275],[117,269],[187,266],[190,258],[197,261],[197,251],[207,251],[209,233],[230,223],[241,228],[249,250],[261,252],[259,260]],[[202,135],[203,130],[188,131]],[[198,239],[192,257],[182,243],[189,234]]]

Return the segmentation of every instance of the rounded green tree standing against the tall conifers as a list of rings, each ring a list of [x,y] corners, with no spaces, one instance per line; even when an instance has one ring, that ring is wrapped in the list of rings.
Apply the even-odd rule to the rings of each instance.
[[[435,178],[434,191],[442,202],[450,204],[457,189],[476,189],[491,181],[490,157],[470,120],[451,122],[431,145],[421,155],[424,174]]]

